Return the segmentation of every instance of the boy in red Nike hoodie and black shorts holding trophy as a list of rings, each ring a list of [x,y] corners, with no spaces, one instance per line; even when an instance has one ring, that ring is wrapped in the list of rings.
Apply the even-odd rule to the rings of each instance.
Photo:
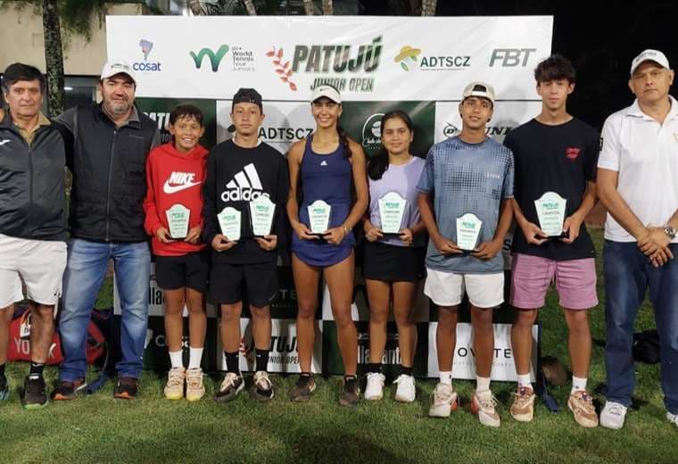
[[[203,112],[193,105],[180,104],[170,113],[169,128],[170,143],[154,148],[146,161],[144,227],[153,236],[155,279],[165,299],[171,361],[165,397],[183,398],[186,382],[186,400],[190,402],[205,393],[200,363],[207,329],[204,294],[210,258],[201,240],[207,164],[207,150],[199,145],[205,131]],[[188,307],[188,369],[182,357],[184,305]]]

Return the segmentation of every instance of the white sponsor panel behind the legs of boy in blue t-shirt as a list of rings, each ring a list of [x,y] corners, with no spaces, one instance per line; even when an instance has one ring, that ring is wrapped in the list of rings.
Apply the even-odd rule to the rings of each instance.
[[[438,357],[435,351],[435,332],[438,329],[437,322],[428,325],[428,377],[438,377]],[[537,366],[537,341],[539,340],[540,327],[533,326],[533,359],[530,366],[530,377],[536,381],[534,375]],[[454,347],[454,360],[452,362],[452,377],[475,380],[475,352],[473,349],[473,328],[470,323],[459,322],[457,324],[457,345]],[[511,325],[494,324],[494,353],[492,357],[492,380],[517,381],[516,363],[511,349]]]

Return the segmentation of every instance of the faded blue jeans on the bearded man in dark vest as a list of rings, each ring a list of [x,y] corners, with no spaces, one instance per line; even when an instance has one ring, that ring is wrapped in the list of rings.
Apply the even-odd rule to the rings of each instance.
[[[113,260],[122,311],[122,360],[115,367],[120,377],[138,378],[141,374],[148,328],[148,281],[151,272],[148,244],[99,243],[74,238],[70,241],[68,264],[63,274],[59,319],[63,350],[59,372],[61,381],[73,382],[85,377],[87,372],[87,325],[110,258]]]

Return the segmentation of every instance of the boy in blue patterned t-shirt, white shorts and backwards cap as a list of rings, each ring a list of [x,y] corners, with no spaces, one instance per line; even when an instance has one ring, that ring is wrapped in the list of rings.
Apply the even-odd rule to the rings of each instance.
[[[471,303],[477,385],[471,410],[485,426],[499,427],[490,391],[494,331],[492,309],[504,301],[501,246],[512,219],[513,153],[485,135],[492,118],[494,89],[472,82],[459,104],[458,137],[434,145],[419,179],[418,204],[431,237],[426,253],[424,293],[438,305],[436,349],[440,383],[431,395],[431,417],[449,417],[458,406],[452,388],[459,303]],[[457,220],[467,213],[482,221],[475,247],[463,250]]]

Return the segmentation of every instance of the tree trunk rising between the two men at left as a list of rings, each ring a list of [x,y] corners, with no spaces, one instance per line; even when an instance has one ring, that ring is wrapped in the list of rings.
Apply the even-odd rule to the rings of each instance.
[[[59,25],[57,0],[43,0],[43,32],[47,74],[47,110],[49,116],[63,112],[62,29]]]

